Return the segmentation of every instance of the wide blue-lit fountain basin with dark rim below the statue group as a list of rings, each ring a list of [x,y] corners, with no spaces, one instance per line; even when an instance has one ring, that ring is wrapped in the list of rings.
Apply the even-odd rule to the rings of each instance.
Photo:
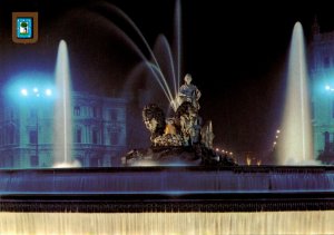
[[[1,212],[263,212],[334,208],[334,167],[0,170]]]

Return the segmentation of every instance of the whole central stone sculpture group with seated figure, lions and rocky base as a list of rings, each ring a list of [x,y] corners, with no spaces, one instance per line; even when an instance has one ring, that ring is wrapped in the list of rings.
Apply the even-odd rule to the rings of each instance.
[[[235,166],[233,158],[220,156],[213,149],[213,125],[203,126],[198,115],[200,91],[185,76],[178,94],[178,107],[166,118],[161,108],[150,104],[143,109],[143,120],[150,131],[151,146],[134,149],[121,158],[124,165],[136,164],[187,164]]]

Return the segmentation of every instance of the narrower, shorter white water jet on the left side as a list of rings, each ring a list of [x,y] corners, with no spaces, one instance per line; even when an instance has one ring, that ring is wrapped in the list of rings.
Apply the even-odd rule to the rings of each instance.
[[[57,98],[55,105],[55,166],[70,166],[72,163],[71,86],[67,43],[61,40],[56,63]]]

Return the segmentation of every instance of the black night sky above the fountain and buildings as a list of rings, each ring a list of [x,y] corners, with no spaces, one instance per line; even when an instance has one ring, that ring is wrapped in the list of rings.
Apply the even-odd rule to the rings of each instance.
[[[245,2],[180,1],[181,78],[191,74],[202,90],[200,116],[213,120],[216,147],[264,156],[279,128],[295,22],[302,23],[310,41],[314,18],[321,31],[331,31],[334,17],[328,3]],[[145,56],[148,51],[111,4],[136,23],[150,47],[159,33],[173,41],[174,0],[1,1],[2,85],[19,70],[53,72],[58,42],[65,39],[75,89],[117,94],[141,61],[130,41]],[[38,43],[11,41],[11,11],[39,11]]]

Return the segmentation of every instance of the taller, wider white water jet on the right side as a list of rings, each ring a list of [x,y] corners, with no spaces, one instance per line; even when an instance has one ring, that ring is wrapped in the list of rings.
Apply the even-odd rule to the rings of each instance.
[[[286,100],[278,143],[278,164],[314,160],[305,40],[301,22],[293,29],[288,55]]]

